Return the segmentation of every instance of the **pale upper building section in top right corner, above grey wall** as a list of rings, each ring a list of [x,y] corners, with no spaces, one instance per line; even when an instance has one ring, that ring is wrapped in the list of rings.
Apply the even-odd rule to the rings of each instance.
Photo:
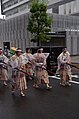
[[[48,11],[60,15],[79,15],[79,0],[51,0]]]

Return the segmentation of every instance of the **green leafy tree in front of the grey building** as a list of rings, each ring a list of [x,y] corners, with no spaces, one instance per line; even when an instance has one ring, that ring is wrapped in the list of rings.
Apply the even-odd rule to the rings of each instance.
[[[47,14],[47,5],[43,0],[32,0],[28,30],[32,33],[31,41],[37,42],[49,39],[47,33],[51,31],[51,18]]]

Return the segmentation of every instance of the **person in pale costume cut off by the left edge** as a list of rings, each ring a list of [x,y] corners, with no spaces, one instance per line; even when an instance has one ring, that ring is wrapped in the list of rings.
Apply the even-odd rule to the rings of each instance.
[[[5,86],[7,86],[8,81],[8,61],[9,59],[3,54],[2,48],[0,48],[0,80],[3,80]]]

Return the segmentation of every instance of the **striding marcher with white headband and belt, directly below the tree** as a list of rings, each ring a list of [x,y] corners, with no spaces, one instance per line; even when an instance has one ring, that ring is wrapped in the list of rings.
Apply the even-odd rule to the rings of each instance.
[[[37,77],[37,81],[33,86],[38,88],[43,81],[46,84],[47,89],[52,88],[52,86],[49,85],[48,73],[46,71],[46,57],[43,53],[43,48],[38,49],[37,53],[35,53],[33,56],[36,62]]]

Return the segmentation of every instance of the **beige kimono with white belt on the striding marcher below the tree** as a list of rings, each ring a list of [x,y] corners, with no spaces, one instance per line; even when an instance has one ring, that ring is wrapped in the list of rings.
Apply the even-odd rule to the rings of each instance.
[[[36,62],[36,76],[37,76],[37,84],[41,84],[43,80],[45,84],[49,84],[48,73],[45,70],[46,66],[46,57],[43,53],[34,54],[35,62]]]

